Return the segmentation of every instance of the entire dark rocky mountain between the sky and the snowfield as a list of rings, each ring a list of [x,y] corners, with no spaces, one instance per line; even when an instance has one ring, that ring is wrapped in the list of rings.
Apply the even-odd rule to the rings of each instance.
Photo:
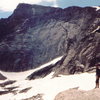
[[[0,19],[0,70],[24,71],[62,55],[52,67],[57,73],[84,71],[100,61],[100,10],[19,4]]]

